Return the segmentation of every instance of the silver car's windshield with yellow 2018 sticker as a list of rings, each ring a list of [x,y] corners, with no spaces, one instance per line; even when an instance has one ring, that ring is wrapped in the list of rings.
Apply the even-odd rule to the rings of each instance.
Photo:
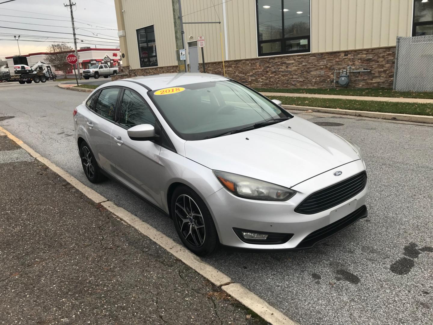
[[[186,84],[148,94],[184,140],[208,139],[293,117],[248,87],[228,80]]]

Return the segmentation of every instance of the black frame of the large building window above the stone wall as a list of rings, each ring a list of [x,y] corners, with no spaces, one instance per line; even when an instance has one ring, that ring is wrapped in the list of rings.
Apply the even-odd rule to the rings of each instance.
[[[309,14],[310,14],[310,34],[304,36],[292,36],[292,37],[284,37],[284,0],[281,0],[281,27],[282,27],[282,37],[279,39],[266,39],[264,41],[260,40],[259,37],[259,0],[255,0],[255,20],[256,20],[256,33],[257,33],[257,56],[274,56],[274,55],[287,55],[287,54],[297,54],[297,53],[311,53],[311,0],[309,2]],[[282,51],[285,48],[284,42],[290,41],[292,39],[307,39],[308,47],[305,50],[293,50],[293,51]],[[281,51],[280,52],[269,52],[269,53],[261,53],[260,46],[265,43],[275,43],[281,42]]]

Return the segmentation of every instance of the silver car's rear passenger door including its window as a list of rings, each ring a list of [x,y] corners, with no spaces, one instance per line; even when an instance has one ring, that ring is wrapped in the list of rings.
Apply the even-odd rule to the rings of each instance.
[[[111,129],[120,91],[117,87],[103,88],[95,101],[91,102],[92,106],[85,117],[87,143],[99,166],[110,173],[114,172],[115,166],[111,152]]]

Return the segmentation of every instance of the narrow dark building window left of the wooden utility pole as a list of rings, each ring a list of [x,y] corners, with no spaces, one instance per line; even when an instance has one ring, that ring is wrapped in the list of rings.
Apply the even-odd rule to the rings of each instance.
[[[153,26],[137,29],[138,52],[140,58],[140,67],[156,67],[158,59],[156,58],[155,31]]]

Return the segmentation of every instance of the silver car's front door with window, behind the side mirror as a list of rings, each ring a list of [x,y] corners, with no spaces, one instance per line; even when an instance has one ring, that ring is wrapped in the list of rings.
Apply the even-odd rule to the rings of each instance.
[[[117,114],[118,123],[111,131],[111,147],[116,162],[116,177],[153,204],[161,205],[159,187],[159,152],[152,141],[131,140],[127,130],[139,124],[155,126],[156,118],[145,100],[135,91],[125,89]]]

